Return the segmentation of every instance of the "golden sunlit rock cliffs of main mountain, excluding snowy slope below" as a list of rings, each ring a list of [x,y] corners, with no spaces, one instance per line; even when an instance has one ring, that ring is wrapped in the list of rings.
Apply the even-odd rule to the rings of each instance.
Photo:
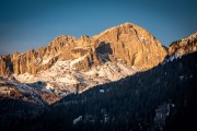
[[[56,37],[48,46],[24,53],[14,52],[11,57],[0,59],[0,75],[8,75],[13,66],[14,74],[28,72],[36,75],[54,66],[58,60],[74,60],[74,68],[88,71],[92,67],[106,61],[116,62],[121,59],[127,66],[138,69],[150,69],[166,56],[165,49],[148,31],[131,23],[125,23],[89,38],[79,39],[62,35]]]

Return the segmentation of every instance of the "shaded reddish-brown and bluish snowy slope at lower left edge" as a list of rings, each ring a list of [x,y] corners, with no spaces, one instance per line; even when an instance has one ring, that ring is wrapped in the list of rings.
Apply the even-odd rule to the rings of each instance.
[[[42,105],[51,104],[60,99],[58,95],[47,91],[45,84],[42,82],[24,84],[5,76],[0,76],[0,97],[21,99]]]

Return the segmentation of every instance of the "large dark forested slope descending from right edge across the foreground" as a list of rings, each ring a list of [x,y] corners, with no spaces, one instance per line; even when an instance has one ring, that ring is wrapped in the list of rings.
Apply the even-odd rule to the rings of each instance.
[[[21,119],[7,130],[194,130],[197,118],[196,58],[197,52],[190,53],[117,82],[71,94],[40,115]],[[157,118],[157,110],[162,105],[169,105],[164,120]]]

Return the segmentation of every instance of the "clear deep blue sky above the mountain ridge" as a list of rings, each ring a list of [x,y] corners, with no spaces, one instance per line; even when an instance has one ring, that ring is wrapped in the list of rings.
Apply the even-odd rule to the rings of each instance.
[[[59,35],[93,35],[125,22],[164,46],[197,31],[195,0],[0,0],[0,55],[48,45]]]

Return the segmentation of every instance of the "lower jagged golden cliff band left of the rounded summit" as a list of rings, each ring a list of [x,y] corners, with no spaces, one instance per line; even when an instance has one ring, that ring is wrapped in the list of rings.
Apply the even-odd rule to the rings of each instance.
[[[48,46],[38,50],[32,49],[24,53],[13,53],[13,73],[28,72],[35,75],[39,71],[49,69],[65,49],[74,45],[74,37],[63,35],[55,38]]]

